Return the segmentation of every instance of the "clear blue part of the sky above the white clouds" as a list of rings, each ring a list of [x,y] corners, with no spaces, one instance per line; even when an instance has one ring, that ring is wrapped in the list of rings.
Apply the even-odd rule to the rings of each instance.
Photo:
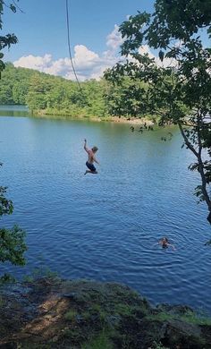
[[[4,31],[14,32],[19,45],[8,58],[21,55],[44,55],[55,58],[67,55],[65,0],[20,0],[24,13],[4,13]],[[105,38],[128,14],[137,10],[152,11],[154,0],[69,0],[72,47],[77,44],[101,53]]]

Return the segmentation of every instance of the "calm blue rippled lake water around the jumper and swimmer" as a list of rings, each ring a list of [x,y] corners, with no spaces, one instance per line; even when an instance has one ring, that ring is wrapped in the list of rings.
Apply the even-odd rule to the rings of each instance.
[[[164,142],[169,130],[140,134],[119,123],[13,113],[4,107],[0,117],[1,184],[14,204],[1,224],[24,228],[29,250],[26,267],[1,270],[22,277],[46,266],[211,312],[207,207],[193,196],[199,177],[187,169],[194,158],[177,129]],[[97,175],[83,174],[85,137],[99,148]],[[163,235],[176,251],[156,244]]]

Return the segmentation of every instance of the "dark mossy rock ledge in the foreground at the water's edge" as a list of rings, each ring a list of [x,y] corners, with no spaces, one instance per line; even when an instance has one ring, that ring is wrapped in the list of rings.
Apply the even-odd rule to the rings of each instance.
[[[1,291],[0,348],[211,348],[211,320],[125,285],[40,278]]]

